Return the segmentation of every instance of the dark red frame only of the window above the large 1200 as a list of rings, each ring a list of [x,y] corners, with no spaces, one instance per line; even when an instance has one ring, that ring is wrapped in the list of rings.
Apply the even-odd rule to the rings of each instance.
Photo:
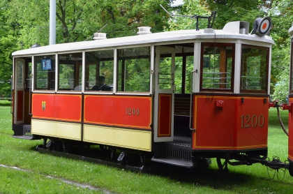
[[[248,61],[248,57],[257,57],[257,56],[261,55],[261,54],[253,54],[253,53],[251,53],[250,55],[244,57],[243,56],[243,49],[244,48],[258,49],[258,50],[263,50],[264,52],[266,52],[266,57],[260,58],[260,63],[261,63],[262,60],[266,60],[265,61],[265,63],[266,63],[265,66],[262,66],[260,64],[260,71],[259,72],[260,73],[265,72],[264,80],[262,82],[260,81],[260,87],[261,87],[260,89],[243,89],[243,78],[245,78],[245,77],[243,77],[244,76],[243,73],[248,72],[248,70],[247,70],[248,68],[246,68],[246,71],[244,71],[244,63],[245,63],[245,61]],[[253,65],[253,67],[255,68],[255,65]],[[263,70],[262,67],[265,67],[266,69]],[[241,66],[240,66],[240,68],[241,68],[241,75],[240,75],[240,92],[241,93],[267,94],[267,91],[268,91],[268,73],[269,73],[269,47],[261,47],[261,46],[255,46],[255,45],[241,45]],[[257,68],[255,68],[255,70],[257,70]],[[246,75],[246,77],[249,78],[248,75]],[[257,79],[257,77],[250,77],[250,78]],[[259,76],[259,78],[261,78],[261,77]],[[248,83],[248,82],[246,82],[246,83]],[[261,86],[262,84],[264,84],[264,87]]]

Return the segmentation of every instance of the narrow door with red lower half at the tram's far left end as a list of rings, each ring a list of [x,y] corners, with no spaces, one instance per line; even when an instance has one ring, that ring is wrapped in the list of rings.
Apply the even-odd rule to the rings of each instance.
[[[15,59],[14,123],[24,123],[24,59]]]

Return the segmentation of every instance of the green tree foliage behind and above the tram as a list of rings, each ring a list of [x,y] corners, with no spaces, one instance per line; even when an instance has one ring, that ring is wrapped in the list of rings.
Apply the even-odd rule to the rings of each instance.
[[[69,43],[91,39],[96,31],[108,38],[130,36],[137,27],[149,26],[152,32],[195,29],[195,20],[170,17],[160,8],[177,15],[208,16],[216,10],[213,28],[222,29],[227,22],[250,22],[250,31],[257,17],[270,16],[273,20],[271,36],[275,40],[271,62],[272,98],[285,101],[289,94],[290,29],[293,21],[292,1],[287,0],[57,0],[57,40]],[[7,80],[12,74],[11,53],[27,49],[33,44],[49,44],[49,4],[39,0],[3,0],[0,2],[0,94],[10,93]],[[200,28],[206,27],[200,21]]]

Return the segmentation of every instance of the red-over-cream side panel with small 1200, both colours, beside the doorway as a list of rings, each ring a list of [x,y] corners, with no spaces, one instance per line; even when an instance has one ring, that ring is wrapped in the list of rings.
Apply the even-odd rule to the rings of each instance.
[[[151,151],[150,96],[84,96],[84,142]]]

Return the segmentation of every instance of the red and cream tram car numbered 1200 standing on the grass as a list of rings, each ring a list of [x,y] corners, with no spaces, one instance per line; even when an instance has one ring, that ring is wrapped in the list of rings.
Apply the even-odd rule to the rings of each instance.
[[[268,21],[258,34],[248,22],[161,33],[140,27],[136,36],[96,33],[13,52],[13,137],[61,151],[98,144],[121,151],[120,161],[131,153],[184,167],[207,158],[219,166],[225,159],[225,167],[262,163],[274,43]],[[110,91],[93,90],[101,77]]]

